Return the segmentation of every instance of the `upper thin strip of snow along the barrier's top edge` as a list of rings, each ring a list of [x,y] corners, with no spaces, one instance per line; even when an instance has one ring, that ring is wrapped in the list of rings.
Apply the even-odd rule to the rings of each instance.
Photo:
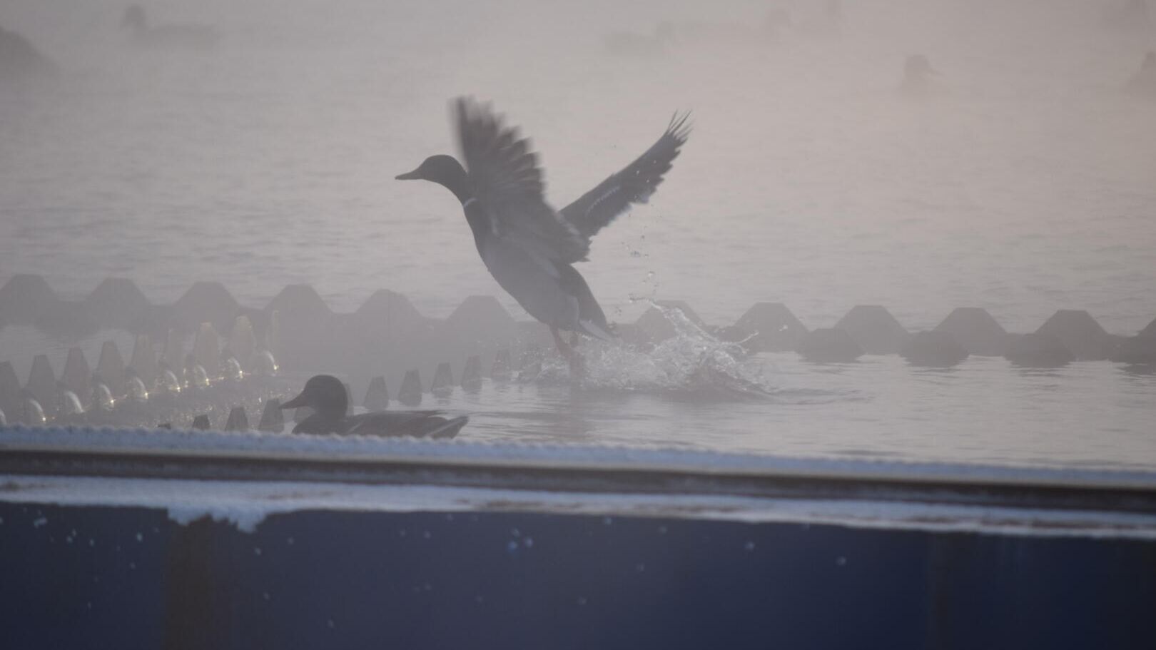
[[[1156,472],[1074,467],[1020,467],[697,451],[599,445],[536,445],[429,441],[370,436],[317,436],[259,431],[8,427],[0,452],[54,451],[92,455],[172,456],[413,463],[447,466],[638,470],[704,475],[903,480],[911,482],[1126,488],[1156,492]]]

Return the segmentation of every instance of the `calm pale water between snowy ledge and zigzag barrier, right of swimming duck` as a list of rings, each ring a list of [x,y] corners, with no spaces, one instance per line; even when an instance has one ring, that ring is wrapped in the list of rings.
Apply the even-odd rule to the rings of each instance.
[[[1003,359],[913,369],[896,356],[815,365],[754,361],[775,389],[755,399],[486,381],[436,399],[473,413],[464,438],[686,446],[806,457],[1156,468],[1156,377],[1083,362],[1046,374]]]

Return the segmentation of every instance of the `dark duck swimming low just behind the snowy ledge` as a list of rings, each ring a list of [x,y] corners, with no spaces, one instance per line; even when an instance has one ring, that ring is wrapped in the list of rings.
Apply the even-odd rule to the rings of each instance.
[[[347,416],[349,396],[341,379],[332,375],[311,377],[301,394],[281,408],[302,406],[312,408],[313,414],[294,427],[295,434],[452,438],[469,421],[466,416],[447,420],[438,411],[381,411]]]

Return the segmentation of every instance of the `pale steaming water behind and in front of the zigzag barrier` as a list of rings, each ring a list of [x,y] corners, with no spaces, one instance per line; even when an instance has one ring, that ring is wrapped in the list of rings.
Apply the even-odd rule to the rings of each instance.
[[[653,297],[718,324],[757,301],[809,327],[854,304],[911,331],[956,306],[1014,332],[1057,309],[1119,334],[1156,317],[1156,102],[1121,91],[1151,27],[1109,30],[1082,0],[864,0],[831,28],[824,5],[780,2],[793,27],[772,36],[773,5],[753,1],[169,1],[146,6],[154,23],[221,40],[144,50],[123,2],[8,0],[0,25],[61,74],[0,87],[0,281],[76,297],[128,276],[168,303],[220,280],[253,306],[307,282],[336,311],[390,288],[432,317],[491,294],[526,318],[452,195],[393,180],[455,153],[447,101],[473,94],[533,138],[555,207],[694,111],[651,205],[578,265],[610,320]],[[613,32],[658,43],[660,21],[674,40],[607,50]],[[927,97],[897,93],[914,53],[939,73]],[[714,345],[696,335],[672,345]],[[22,378],[29,338],[0,331]],[[445,405],[486,440],[1156,467],[1156,382],[1106,362],[729,367],[720,349],[687,394],[651,390],[661,356],[590,354],[596,390],[488,384]],[[770,394],[710,397],[719,382]]]

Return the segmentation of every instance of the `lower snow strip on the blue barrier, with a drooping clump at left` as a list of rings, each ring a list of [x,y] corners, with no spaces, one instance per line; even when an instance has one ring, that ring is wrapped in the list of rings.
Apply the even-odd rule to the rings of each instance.
[[[166,510],[180,525],[202,517],[255,532],[266,517],[304,510],[531,512],[799,523],[853,529],[1156,540],[1156,515],[838,501],[586,494],[433,486],[287,481],[186,481],[0,475],[0,502]]]

